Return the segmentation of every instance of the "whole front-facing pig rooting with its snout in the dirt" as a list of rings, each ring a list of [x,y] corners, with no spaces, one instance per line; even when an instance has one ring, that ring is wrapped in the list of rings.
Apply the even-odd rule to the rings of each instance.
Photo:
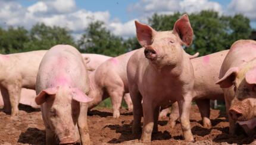
[[[35,101],[41,105],[46,144],[73,144],[79,139],[90,144],[87,103],[92,99],[88,93],[82,54],[69,45],[52,47],[43,56],[36,78]]]

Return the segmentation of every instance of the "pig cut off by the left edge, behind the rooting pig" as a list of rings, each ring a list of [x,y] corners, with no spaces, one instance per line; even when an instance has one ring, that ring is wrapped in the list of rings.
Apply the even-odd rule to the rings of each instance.
[[[11,118],[18,116],[21,88],[35,89],[36,74],[46,50],[14,54],[0,54],[0,89],[4,101],[4,112]]]

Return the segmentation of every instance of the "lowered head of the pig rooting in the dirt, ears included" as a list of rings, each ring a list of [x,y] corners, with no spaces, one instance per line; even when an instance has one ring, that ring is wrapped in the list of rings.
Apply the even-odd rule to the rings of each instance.
[[[80,89],[57,86],[41,91],[35,101],[38,105],[45,105],[43,109],[49,129],[55,132],[60,144],[71,144],[79,140],[79,102],[86,103],[92,99]]]

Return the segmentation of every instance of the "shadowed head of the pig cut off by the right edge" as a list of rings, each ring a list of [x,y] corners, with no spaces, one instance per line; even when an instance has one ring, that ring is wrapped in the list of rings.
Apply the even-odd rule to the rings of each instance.
[[[230,117],[249,130],[255,128],[256,59],[244,63],[242,67],[231,67],[217,84],[221,88],[233,87],[235,98],[230,105]]]

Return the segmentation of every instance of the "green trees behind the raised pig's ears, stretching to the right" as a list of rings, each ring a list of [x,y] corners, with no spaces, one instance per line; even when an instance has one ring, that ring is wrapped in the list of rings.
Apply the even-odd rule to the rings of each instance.
[[[155,30],[172,30],[177,19],[183,14],[154,14],[149,24]],[[194,32],[193,44],[186,49],[188,53],[199,51],[200,55],[229,49],[239,39],[248,39],[251,35],[249,19],[241,14],[231,16],[219,15],[214,11],[201,11],[190,14],[189,20]]]

